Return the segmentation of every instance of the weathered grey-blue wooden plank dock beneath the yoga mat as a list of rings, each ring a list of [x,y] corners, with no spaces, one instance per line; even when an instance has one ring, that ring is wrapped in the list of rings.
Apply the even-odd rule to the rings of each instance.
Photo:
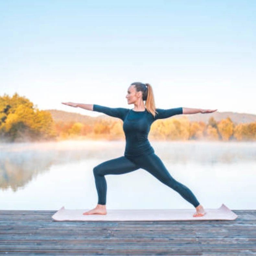
[[[233,221],[57,222],[0,210],[0,255],[256,255],[256,210]]]

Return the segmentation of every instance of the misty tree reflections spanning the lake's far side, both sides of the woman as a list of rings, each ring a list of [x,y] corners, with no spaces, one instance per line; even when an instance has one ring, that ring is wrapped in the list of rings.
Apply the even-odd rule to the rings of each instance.
[[[256,162],[253,142],[151,142],[155,153],[167,164],[214,166]],[[17,191],[53,165],[85,159],[107,159],[123,155],[124,141],[63,141],[0,144],[0,188]]]

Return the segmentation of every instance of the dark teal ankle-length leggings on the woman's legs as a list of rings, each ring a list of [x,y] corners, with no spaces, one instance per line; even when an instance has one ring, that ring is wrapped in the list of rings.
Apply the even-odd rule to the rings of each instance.
[[[141,155],[138,157],[122,156],[103,162],[93,168],[96,189],[98,192],[98,204],[106,204],[107,182],[105,175],[124,174],[139,168],[145,169],[162,183],[178,192],[194,207],[199,205],[192,191],[181,184],[169,174],[161,159],[155,154]]]

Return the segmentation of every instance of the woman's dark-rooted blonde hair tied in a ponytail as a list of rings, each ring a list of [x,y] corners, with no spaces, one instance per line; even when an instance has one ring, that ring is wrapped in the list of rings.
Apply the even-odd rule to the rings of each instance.
[[[157,111],[152,86],[150,84],[143,84],[141,82],[134,82],[131,85],[135,86],[137,92],[142,92],[142,99],[146,101],[146,110],[155,117]]]

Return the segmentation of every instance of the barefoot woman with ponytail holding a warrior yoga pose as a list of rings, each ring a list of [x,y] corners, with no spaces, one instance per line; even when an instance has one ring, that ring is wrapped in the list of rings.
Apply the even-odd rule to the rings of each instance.
[[[145,169],[165,185],[178,192],[195,209],[194,217],[205,215],[203,206],[198,202],[192,191],[175,180],[164,166],[161,159],[155,154],[147,135],[151,124],[157,119],[168,118],[179,114],[212,113],[216,110],[202,110],[191,108],[156,109],[153,90],[150,84],[135,82],[128,88],[126,95],[128,104],[134,104],[133,109],[109,108],[96,104],[80,104],[62,102],[72,107],[105,113],[123,121],[126,145],[124,156],[105,161],[94,167],[96,189],[98,193],[97,206],[83,215],[107,214],[106,194],[107,183],[105,175],[123,174],[139,168]],[[145,105],[144,105],[145,100]]]

